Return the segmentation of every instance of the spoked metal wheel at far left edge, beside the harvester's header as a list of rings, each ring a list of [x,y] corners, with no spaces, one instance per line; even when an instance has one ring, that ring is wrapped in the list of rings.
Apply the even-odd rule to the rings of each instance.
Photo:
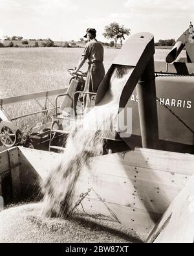
[[[3,146],[14,146],[17,140],[17,127],[10,121],[0,122],[0,141]]]

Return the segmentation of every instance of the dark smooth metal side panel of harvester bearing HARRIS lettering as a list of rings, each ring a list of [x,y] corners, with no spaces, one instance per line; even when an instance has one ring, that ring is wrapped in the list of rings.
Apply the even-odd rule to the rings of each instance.
[[[194,77],[192,76],[164,76],[156,78],[160,149],[164,149],[164,144],[166,144],[165,150],[170,151],[173,149],[172,151],[193,152],[193,92]],[[139,143],[134,141],[133,145],[133,135],[141,136],[136,89],[133,91],[126,108],[132,108],[133,115],[132,136],[128,140],[131,141],[131,146],[141,146],[139,144],[140,141]],[[171,144],[174,144],[174,146],[171,146]]]

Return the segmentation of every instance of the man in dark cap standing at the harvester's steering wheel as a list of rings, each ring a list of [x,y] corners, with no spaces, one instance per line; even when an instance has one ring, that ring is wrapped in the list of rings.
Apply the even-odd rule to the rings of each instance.
[[[85,45],[78,66],[75,71],[72,72],[72,75],[76,75],[85,61],[88,60],[89,69],[83,91],[96,93],[98,86],[105,75],[105,69],[103,67],[103,46],[96,40],[96,29],[89,28],[86,32],[87,34],[85,34],[84,37],[87,38],[88,43]],[[85,106],[86,108],[91,106],[90,95],[86,95]]]

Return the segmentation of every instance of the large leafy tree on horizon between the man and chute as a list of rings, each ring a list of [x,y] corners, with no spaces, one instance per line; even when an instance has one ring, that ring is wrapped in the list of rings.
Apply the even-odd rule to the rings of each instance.
[[[131,29],[126,29],[124,28],[124,25],[119,25],[116,22],[111,23],[108,26],[105,26],[103,36],[107,39],[114,39],[115,41],[115,48],[116,48],[116,43],[118,39],[124,39],[124,35],[126,34],[129,36]]]

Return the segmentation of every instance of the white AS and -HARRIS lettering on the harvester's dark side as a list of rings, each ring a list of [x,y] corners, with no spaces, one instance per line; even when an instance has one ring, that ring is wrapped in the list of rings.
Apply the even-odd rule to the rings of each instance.
[[[129,99],[131,102],[138,102],[138,95],[131,95],[131,98]],[[156,99],[158,104],[165,105],[169,107],[175,107],[175,108],[192,108],[192,101],[191,100],[183,100],[183,99],[169,99],[169,98],[163,98],[160,97]]]

